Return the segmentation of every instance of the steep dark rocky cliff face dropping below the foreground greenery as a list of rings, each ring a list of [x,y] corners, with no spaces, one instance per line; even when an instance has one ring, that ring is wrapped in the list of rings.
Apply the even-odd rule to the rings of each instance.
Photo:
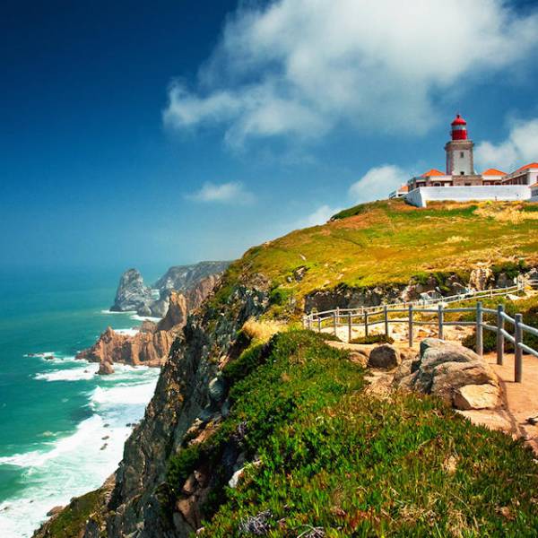
[[[256,286],[238,286],[226,308],[215,311],[205,303],[201,312],[188,318],[143,421],[126,441],[108,505],[105,535],[187,537],[195,530],[179,512],[172,522],[162,516],[159,487],[165,480],[167,462],[196,418],[208,421],[219,416],[212,404],[210,382],[228,360],[241,326],[267,306],[268,283],[260,279]]]

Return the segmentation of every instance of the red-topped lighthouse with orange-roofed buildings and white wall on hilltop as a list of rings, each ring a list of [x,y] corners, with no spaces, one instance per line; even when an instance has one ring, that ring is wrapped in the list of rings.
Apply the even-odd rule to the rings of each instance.
[[[446,172],[430,169],[411,178],[389,195],[404,197],[412,205],[424,207],[429,200],[538,201],[538,162],[526,164],[513,172],[474,169],[474,143],[467,133],[467,122],[459,114],[451,124],[451,140],[445,145]],[[534,189],[534,190],[533,190]]]

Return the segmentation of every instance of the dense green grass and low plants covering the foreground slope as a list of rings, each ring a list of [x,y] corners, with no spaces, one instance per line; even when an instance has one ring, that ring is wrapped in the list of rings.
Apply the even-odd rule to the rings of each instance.
[[[429,396],[379,400],[365,386],[364,370],[317,334],[275,335],[231,386],[221,429],[187,448],[179,474],[170,462],[174,491],[197,464],[213,466],[201,535],[243,535],[241,524],[265,511],[272,537],[313,527],[331,537],[535,535],[530,450]],[[221,465],[233,443],[260,462],[235,490]]]

